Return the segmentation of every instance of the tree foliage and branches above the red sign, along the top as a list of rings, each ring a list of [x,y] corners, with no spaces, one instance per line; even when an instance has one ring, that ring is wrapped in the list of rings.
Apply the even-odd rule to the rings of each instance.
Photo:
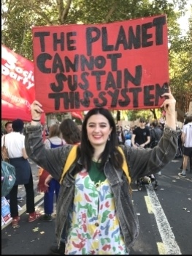
[[[109,23],[166,13],[168,22],[178,30],[176,20],[185,7],[183,0],[1,0],[1,4],[2,43],[28,59],[33,59],[33,26]],[[174,12],[174,4],[180,12]],[[171,29],[169,34],[171,37]]]

